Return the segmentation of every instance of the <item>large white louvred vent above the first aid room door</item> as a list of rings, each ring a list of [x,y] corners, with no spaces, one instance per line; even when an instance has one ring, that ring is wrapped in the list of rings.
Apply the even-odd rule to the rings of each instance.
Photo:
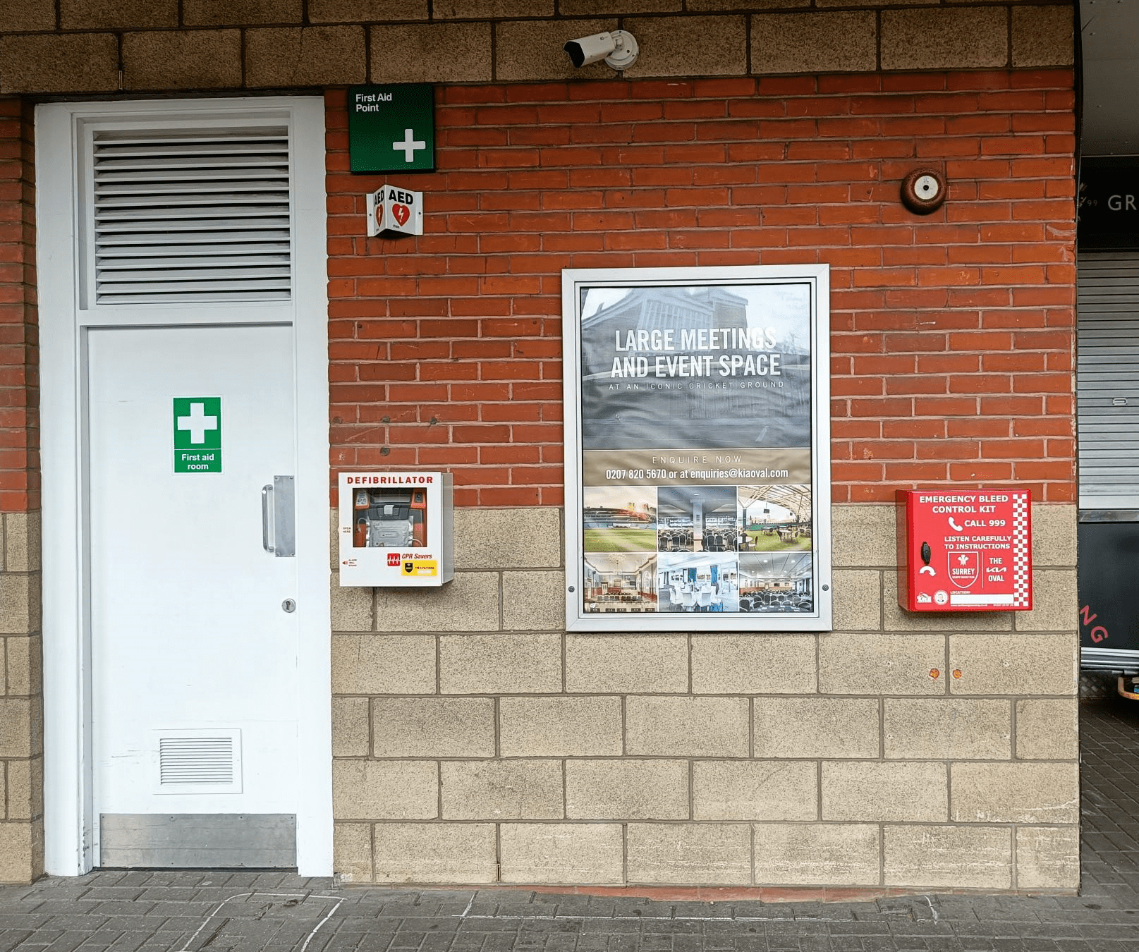
[[[288,301],[284,126],[93,136],[95,302]]]

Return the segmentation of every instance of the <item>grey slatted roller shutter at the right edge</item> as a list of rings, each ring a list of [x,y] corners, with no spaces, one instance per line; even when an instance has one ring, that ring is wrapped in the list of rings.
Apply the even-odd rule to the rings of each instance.
[[[1139,509],[1139,252],[1084,252],[1076,292],[1080,508]]]

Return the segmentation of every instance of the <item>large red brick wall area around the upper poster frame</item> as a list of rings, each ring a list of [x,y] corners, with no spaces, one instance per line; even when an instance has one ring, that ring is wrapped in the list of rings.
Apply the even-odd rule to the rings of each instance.
[[[1074,96],[1058,71],[442,87],[424,236],[368,239],[328,105],[334,469],[556,504],[560,269],[831,266],[836,502],[1074,499]],[[899,183],[933,165],[927,216]]]

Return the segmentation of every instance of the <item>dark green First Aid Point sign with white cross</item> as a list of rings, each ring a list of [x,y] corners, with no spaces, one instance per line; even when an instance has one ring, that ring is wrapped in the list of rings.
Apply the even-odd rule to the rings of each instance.
[[[353,172],[435,171],[435,88],[349,87]]]

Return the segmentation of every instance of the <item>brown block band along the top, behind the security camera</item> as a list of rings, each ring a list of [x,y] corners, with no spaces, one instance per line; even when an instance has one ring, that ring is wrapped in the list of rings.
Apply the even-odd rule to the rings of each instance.
[[[137,92],[605,79],[560,54],[633,33],[630,77],[1033,68],[1073,61],[1073,0],[26,0],[0,91]]]

